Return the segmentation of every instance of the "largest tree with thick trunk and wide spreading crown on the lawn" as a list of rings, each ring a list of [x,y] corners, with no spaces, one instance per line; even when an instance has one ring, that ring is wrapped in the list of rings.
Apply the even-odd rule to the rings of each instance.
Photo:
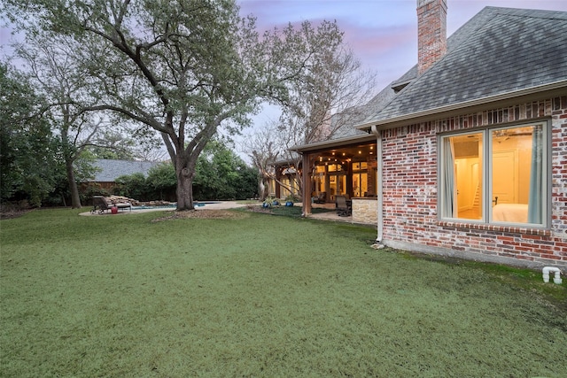
[[[221,125],[249,125],[260,101],[285,101],[309,58],[340,35],[308,23],[260,35],[234,0],[5,0],[13,22],[74,35],[111,110],[161,133],[179,210],[193,208],[198,155]],[[28,12],[24,21],[17,12]],[[316,41],[316,42],[315,42]],[[231,121],[229,123],[228,121]]]

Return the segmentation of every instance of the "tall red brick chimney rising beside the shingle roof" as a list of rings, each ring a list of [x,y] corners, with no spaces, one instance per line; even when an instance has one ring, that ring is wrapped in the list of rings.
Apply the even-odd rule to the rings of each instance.
[[[417,74],[447,52],[447,0],[417,0]]]

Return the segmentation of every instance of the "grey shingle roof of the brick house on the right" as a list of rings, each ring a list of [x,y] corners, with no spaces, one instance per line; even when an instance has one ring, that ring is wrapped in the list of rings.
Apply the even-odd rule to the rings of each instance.
[[[412,81],[412,78],[414,81]],[[447,54],[360,128],[420,113],[567,86],[567,12],[485,7],[447,39]]]

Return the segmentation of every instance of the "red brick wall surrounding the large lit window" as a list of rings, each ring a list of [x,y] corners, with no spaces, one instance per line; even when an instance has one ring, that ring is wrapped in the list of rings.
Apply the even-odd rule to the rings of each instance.
[[[438,134],[541,118],[552,120],[550,227],[439,220]],[[519,266],[567,266],[567,96],[386,129],[382,143],[386,245]]]

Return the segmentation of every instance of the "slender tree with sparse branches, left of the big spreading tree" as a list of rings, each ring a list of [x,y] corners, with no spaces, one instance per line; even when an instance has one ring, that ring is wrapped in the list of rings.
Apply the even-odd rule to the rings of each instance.
[[[80,208],[75,162],[85,148],[108,145],[102,136],[110,125],[104,114],[85,112],[96,104],[97,96],[93,96],[92,80],[83,72],[82,62],[74,54],[80,45],[66,36],[37,31],[29,33],[26,41],[16,44],[15,48],[31,84],[43,98],[38,116],[50,120],[54,135],[59,139],[71,205]]]

